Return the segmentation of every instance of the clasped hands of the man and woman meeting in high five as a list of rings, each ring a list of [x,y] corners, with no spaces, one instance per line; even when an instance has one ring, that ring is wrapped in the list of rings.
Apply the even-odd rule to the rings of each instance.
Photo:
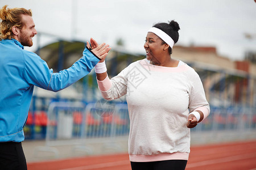
[[[88,48],[90,48],[90,45],[91,45],[91,48],[92,48],[92,52],[98,57],[100,58],[100,62],[104,62],[106,56],[108,55],[108,52],[111,48],[109,48],[109,45],[105,44],[105,43],[102,43],[101,45],[98,45],[97,41],[95,41],[93,38],[90,38],[90,44],[89,42],[87,41],[86,42],[86,46]]]

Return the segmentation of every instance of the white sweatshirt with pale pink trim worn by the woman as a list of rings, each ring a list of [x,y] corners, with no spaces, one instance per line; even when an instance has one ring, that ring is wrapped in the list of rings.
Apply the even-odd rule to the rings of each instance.
[[[126,95],[130,116],[129,154],[132,162],[188,160],[189,112],[210,112],[199,75],[184,62],[177,67],[131,63],[117,76],[98,81],[107,100]]]

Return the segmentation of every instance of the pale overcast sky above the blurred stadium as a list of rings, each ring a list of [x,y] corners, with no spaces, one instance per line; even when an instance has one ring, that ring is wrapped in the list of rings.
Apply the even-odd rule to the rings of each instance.
[[[218,54],[234,60],[256,50],[254,0],[0,0],[0,5],[31,8],[38,32],[82,41],[93,37],[112,47],[122,38],[136,53],[144,53],[152,24],[172,19],[180,25],[179,45],[216,46]],[[34,37],[34,47],[26,49],[56,40],[52,37]]]

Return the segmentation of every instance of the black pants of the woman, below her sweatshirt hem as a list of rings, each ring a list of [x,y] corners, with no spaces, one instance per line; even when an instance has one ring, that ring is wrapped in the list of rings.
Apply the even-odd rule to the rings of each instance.
[[[131,162],[133,170],[184,170],[187,160],[162,160],[156,162]]]

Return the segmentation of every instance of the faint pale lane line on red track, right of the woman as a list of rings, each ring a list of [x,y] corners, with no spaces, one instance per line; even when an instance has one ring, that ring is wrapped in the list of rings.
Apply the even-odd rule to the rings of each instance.
[[[256,153],[254,152],[254,153],[251,153],[251,154],[229,156],[229,157],[226,157],[226,158],[205,160],[205,161],[197,162],[197,163],[189,163],[186,168],[201,167],[201,166],[204,166],[204,165],[218,164],[218,163],[224,163],[224,162],[232,162],[234,160],[242,160],[242,159],[255,158],[255,157],[256,157]]]

